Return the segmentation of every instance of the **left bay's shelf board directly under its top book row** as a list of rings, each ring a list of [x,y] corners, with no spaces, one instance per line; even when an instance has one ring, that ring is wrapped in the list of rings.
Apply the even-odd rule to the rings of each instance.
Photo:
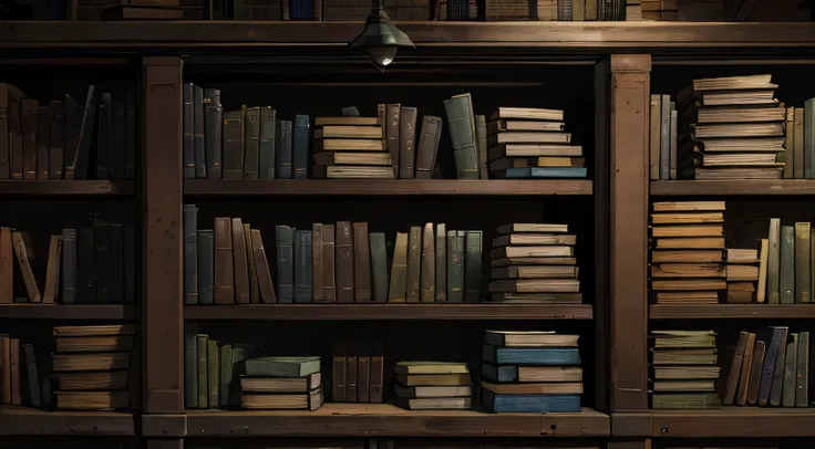
[[[107,180],[0,180],[0,196],[125,196],[135,192],[134,181]]]

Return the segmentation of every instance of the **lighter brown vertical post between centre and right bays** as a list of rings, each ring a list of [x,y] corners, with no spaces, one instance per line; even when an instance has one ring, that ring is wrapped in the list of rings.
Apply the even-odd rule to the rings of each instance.
[[[651,56],[610,62],[611,409],[648,408],[648,113]]]

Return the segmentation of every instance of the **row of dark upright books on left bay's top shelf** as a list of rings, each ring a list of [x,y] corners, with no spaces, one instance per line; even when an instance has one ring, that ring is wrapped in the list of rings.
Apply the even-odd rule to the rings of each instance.
[[[49,102],[0,83],[0,179],[134,179],[135,95],[87,88]]]

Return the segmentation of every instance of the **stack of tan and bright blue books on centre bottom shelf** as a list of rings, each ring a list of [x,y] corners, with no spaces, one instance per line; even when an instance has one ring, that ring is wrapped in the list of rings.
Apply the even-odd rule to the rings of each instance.
[[[487,331],[484,405],[498,413],[580,411],[578,338],[554,332]]]

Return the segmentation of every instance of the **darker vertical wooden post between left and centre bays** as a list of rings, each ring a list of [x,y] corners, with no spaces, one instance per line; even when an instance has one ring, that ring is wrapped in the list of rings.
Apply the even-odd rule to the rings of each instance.
[[[142,80],[144,410],[180,414],[184,413],[180,58],[145,58]],[[164,443],[156,445],[157,449],[169,449]]]

